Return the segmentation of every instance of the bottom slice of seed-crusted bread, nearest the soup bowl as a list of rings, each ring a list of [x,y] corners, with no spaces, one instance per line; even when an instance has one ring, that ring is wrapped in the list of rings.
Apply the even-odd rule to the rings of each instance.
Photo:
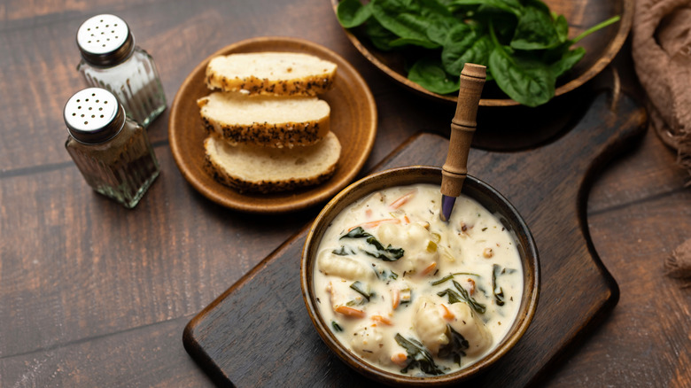
[[[341,144],[329,132],[321,142],[291,150],[232,145],[218,136],[204,141],[205,168],[218,182],[240,192],[277,192],[319,184],[336,171]]]

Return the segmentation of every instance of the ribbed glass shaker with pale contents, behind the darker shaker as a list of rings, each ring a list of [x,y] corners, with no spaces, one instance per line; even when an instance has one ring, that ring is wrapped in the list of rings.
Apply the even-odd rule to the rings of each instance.
[[[135,44],[125,20],[109,14],[87,19],[77,30],[77,46],[77,70],[87,84],[110,90],[130,119],[146,128],[166,109],[156,64]]]

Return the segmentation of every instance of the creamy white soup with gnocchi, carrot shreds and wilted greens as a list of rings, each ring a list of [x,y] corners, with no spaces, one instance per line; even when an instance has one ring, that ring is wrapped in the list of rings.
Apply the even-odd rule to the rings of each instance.
[[[379,369],[453,372],[507,334],[523,292],[516,239],[477,201],[439,219],[439,186],[370,194],[322,237],[314,265],[319,312],[339,341]]]

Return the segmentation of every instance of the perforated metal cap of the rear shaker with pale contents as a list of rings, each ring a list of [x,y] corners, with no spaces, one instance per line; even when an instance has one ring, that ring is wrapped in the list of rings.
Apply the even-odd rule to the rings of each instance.
[[[103,14],[87,19],[77,30],[82,58],[93,66],[114,66],[135,50],[135,38],[125,20]]]

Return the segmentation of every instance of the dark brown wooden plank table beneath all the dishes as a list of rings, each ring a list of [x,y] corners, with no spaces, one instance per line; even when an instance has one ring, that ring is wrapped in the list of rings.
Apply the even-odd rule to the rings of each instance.
[[[76,29],[104,12],[126,19],[151,52],[169,102],[202,59],[245,38],[295,36],[338,52],[377,100],[377,143],[362,174],[418,131],[446,136],[453,116],[453,108],[400,89],[362,58],[325,0],[4,0],[0,386],[211,385],[182,347],[184,326],[318,211],[248,217],[208,201],[175,167],[169,112],[149,129],[162,174],[135,210],[90,190],[64,149],[61,115],[83,87]],[[629,53],[626,45],[614,66],[625,91],[641,96]],[[691,385],[689,289],[663,268],[691,237],[691,191],[674,159],[649,132],[594,182],[589,231],[620,297],[541,383]]]

